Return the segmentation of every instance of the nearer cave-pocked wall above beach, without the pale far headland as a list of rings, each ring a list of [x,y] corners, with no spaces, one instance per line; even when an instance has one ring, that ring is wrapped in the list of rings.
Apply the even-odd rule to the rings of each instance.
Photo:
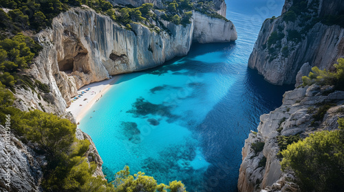
[[[151,32],[136,23],[131,23],[132,30],[127,30],[93,10],[69,10],[56,17],[51,40],[58,65],[69,69],[60,69],[59,73],[67,75],[61,75],[63,80],[58,81],[67,104],[74,90],[85,84],[105,80],[109,75],[155,67],[175,56],[186,55],[191,47],[193,25],[165,23],[171,36],[166,32]]]

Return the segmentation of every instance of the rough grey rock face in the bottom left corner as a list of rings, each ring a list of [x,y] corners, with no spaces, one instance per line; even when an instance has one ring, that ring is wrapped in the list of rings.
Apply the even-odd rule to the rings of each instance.
[[[3,143],[0,146],[0,191],[41,191],[44,156],[37,155],[32,146],[24,145],[13,134],[6,134],[8,132],[0,125],[0,143]],[[8,147],[6,141],[10,141]]]

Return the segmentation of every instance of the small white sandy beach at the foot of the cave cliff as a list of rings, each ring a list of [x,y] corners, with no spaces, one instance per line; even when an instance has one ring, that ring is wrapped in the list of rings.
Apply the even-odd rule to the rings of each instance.
[[[109,90],[111,85],[115,84],[119,78],[120,77],[116,75],[109,80],[94,82],[83,86],[78,90],[78,93],[81,93],[82,91],[85,93],[83,93],[81,97],[76,96],[78,99],[73,99],[74,101],[66,111],[71,112],[74,115],[77,123],[80,122],[92,105],[96,103],[98,99],[101,99],[107,90]],[[89,91],[85,91],[87,88],[89,88]]]

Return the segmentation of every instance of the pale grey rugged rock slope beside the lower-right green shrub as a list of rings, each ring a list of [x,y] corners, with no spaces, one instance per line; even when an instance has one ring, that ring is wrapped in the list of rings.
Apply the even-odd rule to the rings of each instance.
[[[326,103],[334,106],[327,110],[322,121],[311,123],[312,116]],[[277,136],[299,134],[304,138],[315,131],[334,130],[338,128],[338,117],[344,117],[343,109],[344,91],[333,91],[330,86],[312,85],[286,92],[282,106],[261,115],[258,132],[251,132],[245,141],[239,191],[297,191],[296,184],[290,182],[292,173],[281,172]],[[264,148],[255,152],[252,145],[256,143],[264,143]]]

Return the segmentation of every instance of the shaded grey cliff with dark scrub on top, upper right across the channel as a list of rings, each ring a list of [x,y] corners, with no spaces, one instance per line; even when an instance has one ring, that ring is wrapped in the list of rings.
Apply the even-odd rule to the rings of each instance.
[[[286,0],[281,16],[264,21],[248,66],[272,84],[296,86],[314,66],[333,70],[344,56],[344,28],[335,25],[343,10],[341,0]]]

